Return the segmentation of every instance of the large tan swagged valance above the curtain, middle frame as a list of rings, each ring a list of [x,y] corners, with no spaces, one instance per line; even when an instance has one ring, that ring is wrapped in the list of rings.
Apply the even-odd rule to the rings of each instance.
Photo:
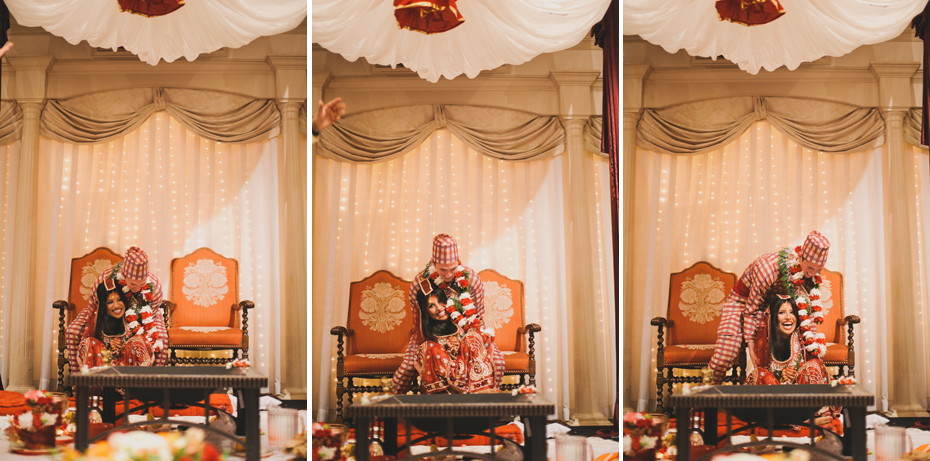
[[[441,104],[345,117],[324,131],[314,148],[326,158],[381,162],[403,155],[443,127],[476,151],[502,160],[535,160],[564,150],[565,130],[558,116]]]

